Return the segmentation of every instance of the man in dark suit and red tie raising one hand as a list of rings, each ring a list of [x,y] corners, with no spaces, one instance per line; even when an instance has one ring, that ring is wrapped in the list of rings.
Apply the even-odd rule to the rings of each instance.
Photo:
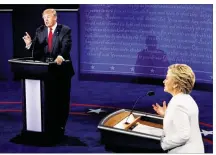
[[[23,40],[26,49],[33,51],[34,59],[56,63],[55,71],[44,80],[47,96],[45,126],[48,133],[63,135],[70,107],[71,78],[74,75],[72,62],[68,63],[71,60],[71,29],[57,23],[54,9],[44,10],[42,17],[44,25],[37,28],[34,39],[26,32]]]

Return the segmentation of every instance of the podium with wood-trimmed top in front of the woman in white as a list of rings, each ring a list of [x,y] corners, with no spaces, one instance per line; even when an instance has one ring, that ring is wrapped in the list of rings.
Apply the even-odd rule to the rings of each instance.
[[[127,109],[109,114],[98,125],[105,146],[139,149],[143,153],[165,153],[160,146],[162,128],[162,117],[140,111],[131,114]]]

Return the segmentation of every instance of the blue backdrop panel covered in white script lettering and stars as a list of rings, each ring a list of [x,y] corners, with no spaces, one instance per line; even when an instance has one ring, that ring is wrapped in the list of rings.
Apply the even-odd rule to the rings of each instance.
[[[80,72],[164,78],[186,63],[212,83],[213,5],[81,5]]]

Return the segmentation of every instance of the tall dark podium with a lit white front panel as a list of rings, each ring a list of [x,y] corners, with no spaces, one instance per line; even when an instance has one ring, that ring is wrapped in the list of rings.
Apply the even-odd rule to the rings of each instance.
[[[71,63],[66,60],[62,65],[55,62],[36,61],[31,57],[10,59],[11,70],[21,80],[23,128],[13,141],[17,143],[40,143],[53,141],[55,132],[55,112],[51,104],[59,102],[53,78],[65,74]],[[51,80],[50,80],[51,79]]]

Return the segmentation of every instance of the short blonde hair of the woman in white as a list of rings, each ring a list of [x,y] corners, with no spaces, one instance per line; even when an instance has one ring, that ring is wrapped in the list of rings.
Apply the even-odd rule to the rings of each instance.
[[[195,84],[195,74],[186,64],[173,64],[168,67],[174,78],[175,88],[178,91],[189,94]]]

